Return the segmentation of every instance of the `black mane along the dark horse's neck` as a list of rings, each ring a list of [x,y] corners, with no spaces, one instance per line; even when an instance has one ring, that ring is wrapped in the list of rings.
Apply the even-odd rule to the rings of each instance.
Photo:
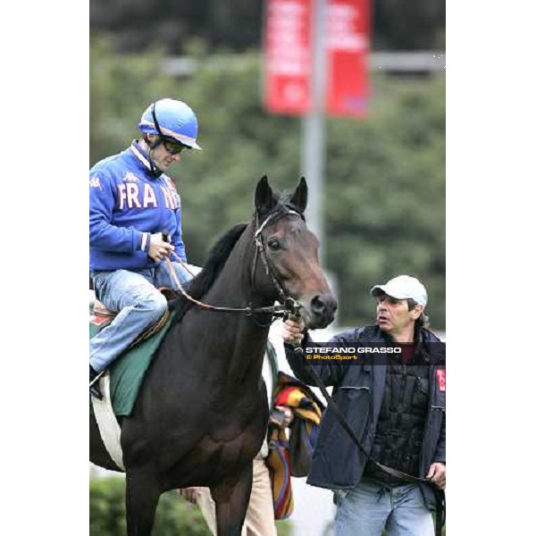
[[[228,230],[211,249],[203,270],[191,281],[188,294],[195,299],[201,298],[211,288],[218,274],[222,272],[223,265],[229,258],[235,244],[239,241],[247,223],[238,223]],[[175,311],[172,322],[180,322],[184,314],[194,304],[186,297],[180,296],[169,303],[170,310]]]

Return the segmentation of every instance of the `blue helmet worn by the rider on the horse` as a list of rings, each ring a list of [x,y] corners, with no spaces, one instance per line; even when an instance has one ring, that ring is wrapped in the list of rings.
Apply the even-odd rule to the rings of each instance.
[[[197,145],[197,117],[186,104],[172,98],[162,98],[147,107],[138,123],[144,134],[157,134],[180,142],[190,149]]]

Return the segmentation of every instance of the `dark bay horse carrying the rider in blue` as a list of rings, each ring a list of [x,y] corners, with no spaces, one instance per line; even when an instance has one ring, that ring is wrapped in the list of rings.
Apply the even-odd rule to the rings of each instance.
[[[331,323],[337,308],[306,227],[306,200],[305,179],[280,197],[263,177],[251,221],[219,240],[192,281],[190,296],[239,314],[184,298],[170,304],[174,323],[121,421],[128,536],[149,536],[160,495],[189,486],[210,488],[218,536],[239,536],[268,422],[261,371],[273,314],[299,312],[315,329]],[[89,443],[94,464],[121,471],[93,415]]]

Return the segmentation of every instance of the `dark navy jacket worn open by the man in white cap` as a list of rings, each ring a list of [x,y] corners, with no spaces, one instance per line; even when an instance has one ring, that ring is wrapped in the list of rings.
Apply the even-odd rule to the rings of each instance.
[[[388,345],[389,340],[375,326],[344,331],[333,337],[330,342],[348,344],[373,343]],[[423,343],[419,348],[431,348],[430,343],[444,348],[431,331],[421,330],[416,342]],[[312,339],[307,335],[302,345],[311,346]],[[434,347],[437,348],[437,347]],[[307,365],[303,356],[295,354],[293,348],[285,345],[287,359],[297,378],[309,385],[315,385],[307,373],[310,366],[322,378],[326,385],[333,386],[333,399],[345,415],[348,424],[361,440],[364,449],[370,453],[374,433],[380,415],[381,400],[385,389],[386,364],[339,364],[323,361],[321,364]],[[430,408],[428,411],[423,449],[418,476],[424,477],[434,462],[446,463],[446,391],[444,383],[440,389],[441,367],[430,366]],[[442,376],[444,378],[444,376]],[[367,431],[368,430],[368,431]],[[366,435],[365,435],[365,431]],[[311,473],[307,482],[313,486],[331,490],[349,490],[360,482],[365,456],[339,425],[336,417],[328,408],[323,415],[320,435],[314,448]],[[423,486],[426,502],[433,507],[435,499],[429,486]]]

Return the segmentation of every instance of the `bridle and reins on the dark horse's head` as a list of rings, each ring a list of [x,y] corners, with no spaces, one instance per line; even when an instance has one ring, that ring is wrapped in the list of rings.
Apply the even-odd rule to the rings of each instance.
[[[191,297],[188,292],[182,287],[179,278],[177,277],[175,271],[172,268],[171,261],[168,257],[166,257],[166,262],[168,263],[168,268],[170,270],[170,273],[172,275],[173,281],[175,281],[175,284],[177,285],[178,289],[180,290],[180,294],[182,294],[183,297],[186,297],[190,302],[194,303],[195,305],[207,310],[207,311],[215,311],[220,313],[239,313],[239,314],[246,314],[246,316],[253,316],[254,314],[270,314],[272,316],[272,320],[275,318],[284,318],[287,319],[290,316],[299,316],[299,311],[302,308],[302,305],[293,297],[290,297],[285,290],[281,287],[281,283],[277,280],[273,273],[272,266],[270,265],[268,261],[268,257],[266,256],[266,249],[263,244],[263,237],[262,232],[264,228],[267,226],[268,222],[271,222],[275,219],[279,219],[283,216],[287,215],[297,215],[302,220],[304,220],[303,214],[299,214],[297,211],[286,207],[288,210],[286,211],[277,211],[272,214],[269,214],[265,219],[264,222],[262,222],[261,225],[258,223],[258,214],[256,214],[256,225],[257,229],[255,230],[254,240],[255,240],[255,258],[253,261],[253,267],[251,270],[251,284],[252,288],[255,288],[255,270],[256,270],[256,264],[257,264],[257,256],[261,257],[261,261],[264,266],[264,272],[266,272],[266,275],[270,278],[272,281],[272,285],[275,287],[280,303],[273,306],[263,306],[263,307],[254,307],[251,304],[245,307],[224,307],[224,306],[212,306],[210,304],[205,304],[204,302],[197,300],[195,297]],[[180,260],[179,256],[172,252],[172,255],[176,257],[176,259],[179,261],[180,264],[184,265],[184,263]]]

